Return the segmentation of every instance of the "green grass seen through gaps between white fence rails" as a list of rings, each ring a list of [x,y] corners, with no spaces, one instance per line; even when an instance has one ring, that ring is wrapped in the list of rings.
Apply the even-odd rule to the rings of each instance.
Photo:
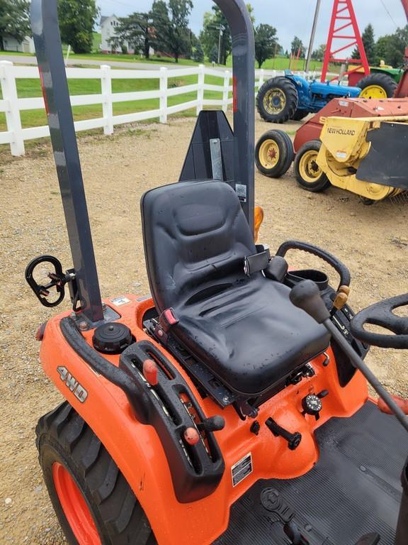
[[[191,85],[197,83],[197,76],[174,77],[169,78],[169,87],[181,87],[183,85]],[[222,85],[222,78],[206,76],[205,83],[213,85]],[[98,79],[69,79],[69,94],[98,94],[101,92],[101,82]],[[112,87],[114,93],[119,92],[134,92],[134,91],[149,91],[159,89],[158,79],[113,79]],[[18,97],[41,97],[41,88],[39,79],[18,79],[17,80]],[[222,94],[214,91],[206,91],[205,99],[222,99]],[[176,97],[169,97],[169,106],[181,104],[195,100],[196,92],[180,94]],[[1,99],[0,92],[0,99]],[[115,116],[121,114],[130,114],[137,111],[147,111],[159,108],[159,99],[139,100],[130,102],[118,102],[113,104],[113,114]],[[72,109],[74,120],[94,119],[102,117],[102,105],[91,104],[89,106],[74,106]],[[179,116],[195,116],[196,111],[183,111]],[[45,111],[43,110],[26,110],[21,111],[21,123],[23,128],[37,127],[47,124]],[[0,131],[6,131],[6,116],[0,113]]]

